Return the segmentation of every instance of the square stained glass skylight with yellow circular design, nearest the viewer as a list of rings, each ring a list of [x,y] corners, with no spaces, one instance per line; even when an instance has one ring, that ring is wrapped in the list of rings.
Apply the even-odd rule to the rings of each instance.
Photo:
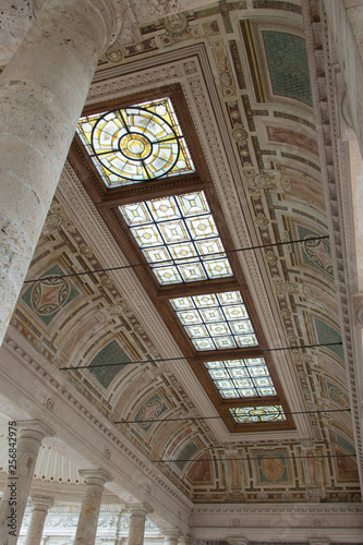
[[[77,134],[108,187],[194,172],[169,98],[86,116]]]

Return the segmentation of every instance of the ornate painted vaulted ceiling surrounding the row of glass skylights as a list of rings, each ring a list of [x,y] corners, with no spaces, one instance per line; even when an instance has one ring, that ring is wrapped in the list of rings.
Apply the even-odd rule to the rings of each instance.
[[[222,0],[153,21],[142,41],[105,53],[83,116],[169,97],[195,168],[108,187],[76,135],[12,318],[193,502],[361,501],[327,238],[334,101],[319,98],[334,57],[323,31],[304,29],[297,0]],[[162,283],[128,209],[201,192],[232,274]],[[177,302],[219,294],[221,313],[232,292],[257,341],[239,344],[232,329],[227,350],[198,348]],[[247,370],[253,359],[275,393],[259,396],[246,375],[251,399],[227,399],[205,365]],[[282,420],[230,412],[264,405]]]

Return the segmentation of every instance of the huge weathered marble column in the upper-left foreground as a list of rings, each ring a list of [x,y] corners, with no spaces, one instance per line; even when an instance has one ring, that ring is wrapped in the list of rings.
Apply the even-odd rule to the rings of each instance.
[[[43,0],[0,76],[0,344],[120,0]]]

